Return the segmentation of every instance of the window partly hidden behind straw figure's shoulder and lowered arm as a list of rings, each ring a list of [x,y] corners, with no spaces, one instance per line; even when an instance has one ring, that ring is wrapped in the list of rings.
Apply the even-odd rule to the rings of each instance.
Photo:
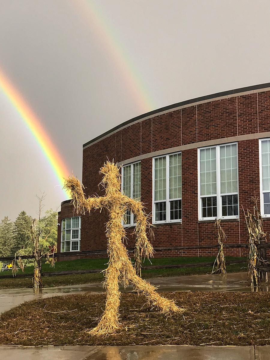
[[[141,162],[122,167],[122,193],[131,199],[141,198]],[[127,210],[123,219],[124,226],[136,225],[135,216]]]

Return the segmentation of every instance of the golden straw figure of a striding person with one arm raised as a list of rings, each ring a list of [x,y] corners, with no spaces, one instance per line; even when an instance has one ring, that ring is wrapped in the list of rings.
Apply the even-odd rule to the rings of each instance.
[[[136,291],[141,291],[154,306],[162,312],[183,311],[177,307],[173,300],[168,300],[156,292],[156,288],[136,275],[136,271],[127,255],[123,245],[125,230],[122,225],[123,215],[130,210],[136,217],[136,243],[146,256],[153,255],[153,247],[147,239],[146,230],[149,227],[147,216],[141,202],[131,199],[121,193],[120,173],[113,162],[107,161],[100,169],[103,174],[101,185],[105,189],[104,197],[85,198],[83,186],[73,175],[66,181],[64,188],[69,190],[77,212],[85,213],[85,209],[104,208],[108,210],[106,237],[108,239],[108,267],[105,271],[104,286],[107,292],[105,311],[97,327],[90,331],[91,334],[108,334],[119,328],[118,309],[120,305],[120,291],[118,282],[131,283]]]

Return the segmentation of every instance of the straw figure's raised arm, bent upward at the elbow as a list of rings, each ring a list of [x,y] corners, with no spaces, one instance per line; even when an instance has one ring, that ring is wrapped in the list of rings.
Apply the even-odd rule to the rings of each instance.
[[[108,203],[107,198],[105,197],[85,197],[84,185],[80,183],[77,177],[71,175],[68,179],[65,180],[64,189],[67,190],[67,193],[72,199],[72,202],[78,212],[85,213],[85,210],[90,211],[91,209],[102,210],[103,206],[106,206]]]

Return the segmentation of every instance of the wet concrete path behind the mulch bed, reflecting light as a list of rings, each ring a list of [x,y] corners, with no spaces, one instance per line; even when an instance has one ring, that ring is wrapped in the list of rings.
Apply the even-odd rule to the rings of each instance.
[[[220,275],[189,275],[171,278],[154,278],[148,281],[158,286],[158,291],[242,291],[249,292],[251,288],[247,284],[246,273],[231,273],[226,276]],[[0,283],[1,286],[1,283]],[[270,286],[269,286],[270,288]],[[132,291],[133,287],[124,288],[122,292]],[[66,294],[85,292],[103,292],[101,283],[60,286],[56,288],[43,288],[38,293],[33,289],[0,289],[0,313],[12,309],[24,301],[47,298]],[[268,291],[268,286],[261,286],[258,291]]]

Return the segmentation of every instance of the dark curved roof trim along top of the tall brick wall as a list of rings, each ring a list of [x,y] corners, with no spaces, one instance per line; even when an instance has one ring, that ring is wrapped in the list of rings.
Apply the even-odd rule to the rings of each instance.
[[[172,105],[168,105],[165,106],[163,108],[159,108],[157,110],[152,110],[149,111],[148,113],[136,116],[130,120],[127,120],[125,122],[122,122],[120,125],[117,125],[115,127],[113,127],[111,130],[108,130],[106,132],[103,132],[103,134],[96,136],[96,138],[88,141],[87,143],[85,143],[84,145],[82,145],[82,147],[86,147],[87,145],[90,145],[91,143],[94,143],[95,141],[104,138],[104,136],[111,134],[112,132],[120,129],[121,127],[124,127],[126,125],[131,124],[132,122],[138,121],[140,119],[143,119],[144,117],[148,117],[154,114],[158,114],[160,112],[166,111],[166,110],[170,110],[170,109],[174,109],[180,106],[184,106],[184,105],[188,105],[188,104],[192,104],[192,103],[197,103],[199,101],[203,101],[203,100],[210,100],[210,99],[214,99],[214,98],[220,98],[221,96],[226,96],[226,95],[233,95],[233,94],[238,94],[238,93],[244,93],[246,91],[252,91],[252,90],[258,90],[258,89],[264,89],[266,87],[270,87],[270,82],[266,82],[265,84],[259,84],[259,85],[252,85],[252,86],[246,86],[246,87],[239,87],[239,89],[234,89],[234,90],[228,90],[228,91],[221,91],[220,93],[215,93],[215,94],[211,94],[211,95],[205,95],[205,96],[200,96],[199,98],[194,98],[194,99],[190,99],[190,100],[185,100],[185,101],[181,101],[180,103],[175,103]]]

